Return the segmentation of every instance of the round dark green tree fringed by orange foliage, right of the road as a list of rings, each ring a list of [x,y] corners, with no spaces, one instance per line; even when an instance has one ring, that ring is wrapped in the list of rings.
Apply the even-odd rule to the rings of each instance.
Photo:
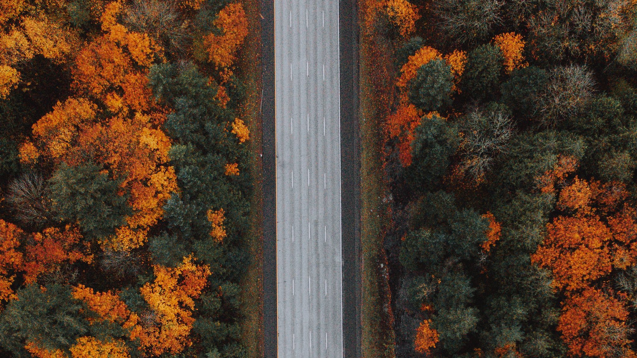
[[[442,111],[451,104],[454,75],[443,59],[433,59],[420,66],[410,83],[409,98],[421,110]]]

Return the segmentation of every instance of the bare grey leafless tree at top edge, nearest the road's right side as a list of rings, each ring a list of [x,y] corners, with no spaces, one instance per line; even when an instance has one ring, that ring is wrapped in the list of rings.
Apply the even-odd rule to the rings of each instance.
[[[485,38],[501,22],[499,0],[436,0],[440,27],[461,43]]]

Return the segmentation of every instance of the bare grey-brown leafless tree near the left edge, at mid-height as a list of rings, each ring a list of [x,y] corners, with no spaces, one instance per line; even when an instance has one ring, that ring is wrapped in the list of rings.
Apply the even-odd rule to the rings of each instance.
[[[47,182],[38,173],[20,176],[9,184],[6,200],[24,224],[39,226],[51,218]]]

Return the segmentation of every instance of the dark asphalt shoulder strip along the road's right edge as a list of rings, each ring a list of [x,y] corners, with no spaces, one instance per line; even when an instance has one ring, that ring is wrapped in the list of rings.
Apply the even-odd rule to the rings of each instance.
[[[341,260],[343,357],[361,357],[361,152],[358,1],[340,0]]]

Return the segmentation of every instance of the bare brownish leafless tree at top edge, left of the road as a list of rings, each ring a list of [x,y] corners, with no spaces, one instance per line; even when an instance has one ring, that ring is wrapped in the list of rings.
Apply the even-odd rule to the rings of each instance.
[[[124,22],[176,52],[183,51],[189,41],[189,23],[182,21],[174,1],[134,0]]]

